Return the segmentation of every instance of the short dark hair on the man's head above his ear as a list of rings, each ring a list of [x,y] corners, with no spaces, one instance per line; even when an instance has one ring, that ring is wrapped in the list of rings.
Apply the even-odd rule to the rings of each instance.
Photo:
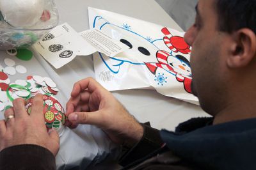
[[[256,33],[256,0],[216,0],[216,11],[220,31],[247,27]]]

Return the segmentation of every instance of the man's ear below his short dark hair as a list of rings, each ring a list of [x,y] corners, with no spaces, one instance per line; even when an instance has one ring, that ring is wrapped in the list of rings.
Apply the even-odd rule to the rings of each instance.
[[[234,43],[231,45],[231,54],[228,56],[227,65],[230,68],[246,66],[256,56],[256,36],[248,28],[239,29],[232,33]]]

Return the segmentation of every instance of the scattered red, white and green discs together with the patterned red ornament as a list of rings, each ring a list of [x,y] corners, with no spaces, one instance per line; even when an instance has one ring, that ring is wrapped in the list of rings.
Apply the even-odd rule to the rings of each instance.
[[[25,49],[24,49],[25,50]],[[10,58],[4,58],[4,63],[0,65],[0,111],[2,115],[6,109],[13,107],[13,100],[24,98],[26,100],[26,111],[31,113],[33,97],[40,93],[44,100],[44,120],[47,130],[52,128],[57,130],[61,136],[65,130],[64,123],[66,120],[65,109],[59,102],[57,95],[59,89],[56,82],[50,77],[28,74],[31,68],[21,63],[20,58],[15,58],[13,53]],[[18,52],[19,53],[19,52]],[[19,79],[17,79],[19,77]]]

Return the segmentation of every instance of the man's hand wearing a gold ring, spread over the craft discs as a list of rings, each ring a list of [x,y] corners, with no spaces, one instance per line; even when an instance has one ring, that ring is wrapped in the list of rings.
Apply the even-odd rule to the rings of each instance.
[[[59,136],[55,130],[48,134],[43,114],[42,95],[33,99],[31,114],[25,109],[25,100],[17,98],[13,107],[4,112],[5,118],[13,115],[14,118],[0,121],[0,151],[18,144],[36,144],[50,150],[54,156],[59,150]]]

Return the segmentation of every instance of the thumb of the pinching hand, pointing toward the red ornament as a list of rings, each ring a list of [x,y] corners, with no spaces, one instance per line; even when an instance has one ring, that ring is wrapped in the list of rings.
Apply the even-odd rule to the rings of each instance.
[[[68,115],[68,120],[77,124],[100,125],[102,116],[100,116],[100,111],[72,112]]]

